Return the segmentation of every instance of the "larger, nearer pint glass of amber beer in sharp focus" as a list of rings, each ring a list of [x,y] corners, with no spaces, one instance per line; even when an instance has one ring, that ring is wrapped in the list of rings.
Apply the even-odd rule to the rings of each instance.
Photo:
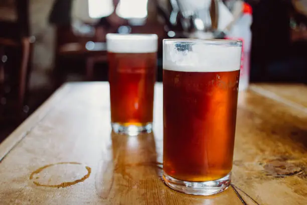
[[[230,185],[241,41],[163,42],[163,179],[189,194]]]

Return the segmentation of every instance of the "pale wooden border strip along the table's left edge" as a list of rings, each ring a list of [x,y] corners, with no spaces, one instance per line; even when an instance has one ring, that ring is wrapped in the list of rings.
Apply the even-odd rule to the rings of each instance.
[[[29,134],[31,133],[31,131],[32,131],[40,122],[42,122],[42,120],[44,120],[44,119],[50,114],[51,111],[53,111],[53,110],[55,109],[55,107],[56,107],[56,105],[57,105],[57,102],[59,102],[59,101],[61,101],[61,100],[63,99],[63,97],[65,96],[64,94],[67,94],[67,93],[69,93],[69,92],[71,91],[71,89],[69,88],[68,85],[69,85],[69,84],[63,85],[63,86],[62,86],[62,89],[60,89],[60,90],[58,90],[57,92],[53,93],[53,95],[52,95],[52,96],[49,98],[49,100],[47,100],[47,101],[48,101],[48,102],[49,102],[49,101],[55,101],[56,103],[53,103],[53,104],[52,104],[53,106],[51,106],[51,107],[49,106],[49,108],[48,108],[48,105],[45,104],[45,107],[48,108],[48,110],[45,111],[45,114],[44,114],[42,117],[39,117],[39,119],[36,120],[36,122],[34,122],[34,123],[31,125],[30,129],[28,129],[27,131],[22,132],[20,135],[18,135],[18,136],[20,136],[20,137],[17,136],[17,139],[18,139],[18,140],[15,141],[15,144],[10,145],[11,147],[9,148],[9,150],[7,150],[5,153],[3,153],[3,154],[0,156],[0,163],[6,158],[6,156],[7,156],[15,147],[17,147],[17,145],[18,145],[23,139],[25,139],[25,137],[26,137],[27,135],[29,135]],[[56,98],[55,96],[59,96],[59,92],[61,93],[61,94],[60,94],[60,98],[59,98],[59,97]],[[47,101],[46,101],[46,102],[47,102]],[[31,121],[32,119],[35,119],[35,118],[36,118],[35,115],[37,115],[37,113],[39,113],[39,110],[41,110],[41,109],[43,109],[43,108],[44,108],[44,104],[43,104],[43,106],[41,106],[39,109],[37,109],[28,119],[26,119],[26,121],[25,121],[22,125],[20,125],[17,129],[19,129],[19,128],[22,127],[24,124],[26,124],[27,122]],[[0,147],[1,147],[1,145],[5,144],[6,141],[10,140],[10,138],[13,138],[13,137],[14,137],[14,133],[12,133],[4,142],[2,142],[2,143],[0,144]],[[16,138],[16,137],[15,137],[15,138]]]

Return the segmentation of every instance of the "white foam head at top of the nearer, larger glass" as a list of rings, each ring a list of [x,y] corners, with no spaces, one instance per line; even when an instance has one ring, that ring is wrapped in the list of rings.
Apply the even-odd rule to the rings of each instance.
[[[239,70],[242,42],[172,39],[163,41],[163,69],[182,72]]]

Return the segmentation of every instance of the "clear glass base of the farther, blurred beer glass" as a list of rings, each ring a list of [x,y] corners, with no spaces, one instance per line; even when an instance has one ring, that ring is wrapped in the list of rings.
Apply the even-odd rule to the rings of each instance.
[[[129,136],[136,136],[140,133],[151,133],[152,132],[152,123],[147,123],[143,126],[128,125],[123,126],[118,123],[111,123],[112,130],[118,134],[124,134]]]

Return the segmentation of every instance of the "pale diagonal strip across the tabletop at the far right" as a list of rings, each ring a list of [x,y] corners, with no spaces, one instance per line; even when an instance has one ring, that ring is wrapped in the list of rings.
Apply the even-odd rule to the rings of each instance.
[[[280,102],[281,104],[284,104],[284,105],[289,106],[291,108],[294,108],[296,110],[300,110],[301,112],[307,113],[307,108],[305,108],[304,106],[301,106],[301,105],[297,104],[296,102],[287,100],[287,99],[275,94],[272,91],[269,91],[269,90],[266,90],[266,89],[263,89],[263,88],[260,88],[260,87],[255,87],[255,86],[250,87],[250,89],[252,91],[254,91],[256,94],[265,96],[267,98],[270,98],[270,99],[273,99],[277,102]]]

